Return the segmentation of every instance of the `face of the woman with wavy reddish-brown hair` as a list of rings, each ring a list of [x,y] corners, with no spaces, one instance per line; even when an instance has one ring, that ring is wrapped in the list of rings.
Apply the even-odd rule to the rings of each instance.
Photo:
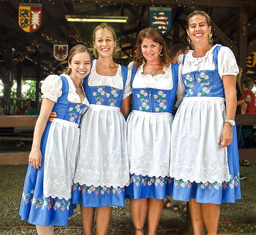
[[[143,38],[141,42],[141,51],[145,59],[149,62],[160,60],[159,52],[162,46],[159,42],[154,42],[151,38]]]

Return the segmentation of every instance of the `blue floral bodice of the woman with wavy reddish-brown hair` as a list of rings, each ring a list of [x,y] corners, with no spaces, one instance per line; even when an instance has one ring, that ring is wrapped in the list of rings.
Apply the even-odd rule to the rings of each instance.
[[[131,88],[133,102],[131,109],[149,113],[173,113],[173,104],[178,88],[178,64],[172,64],[173,88],[171,90],[156,88],[133,88],[133,80],[137,71],[132,68]],[[175,91],[175,92],[173,92]]]

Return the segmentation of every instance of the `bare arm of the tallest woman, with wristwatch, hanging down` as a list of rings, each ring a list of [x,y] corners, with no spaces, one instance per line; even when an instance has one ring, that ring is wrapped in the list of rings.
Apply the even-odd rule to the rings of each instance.
[[[225,99],[226,99],[226,119],[233,119],[235,118],[236,112],[236,77],[234,75],[224,75],[223,77],[223,85],[224,85],[224,92],[225,92]],[[228,123],[224,123],[224,127],[221,133],[221,146],[220,147],[227,147],[229,143],[232,142],[233,139],[233,132],[232,126]]]

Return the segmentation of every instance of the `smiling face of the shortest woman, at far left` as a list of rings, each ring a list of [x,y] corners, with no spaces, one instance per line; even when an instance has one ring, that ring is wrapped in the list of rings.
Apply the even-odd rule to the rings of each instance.
[[[88,52],[77,53],[73,56],[71,62],[68,62],[71,79],[83,79],[86,77],[91,69],[91,56]]]

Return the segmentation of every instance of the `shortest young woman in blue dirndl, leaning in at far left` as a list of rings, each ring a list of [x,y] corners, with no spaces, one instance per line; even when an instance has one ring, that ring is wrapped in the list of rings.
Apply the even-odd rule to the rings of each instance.
[[[64,74],[49,75],[41,87],[43,101],[20,206],[21,219],[35,224],[38,235],[53,235],[53,226],[66,226],[73,214],[79,121],[89,107],[81,82],[90,72],[91,61],[86,46],[74,46]],[[51,111],[58,112],[58,118],[47,122]]]

